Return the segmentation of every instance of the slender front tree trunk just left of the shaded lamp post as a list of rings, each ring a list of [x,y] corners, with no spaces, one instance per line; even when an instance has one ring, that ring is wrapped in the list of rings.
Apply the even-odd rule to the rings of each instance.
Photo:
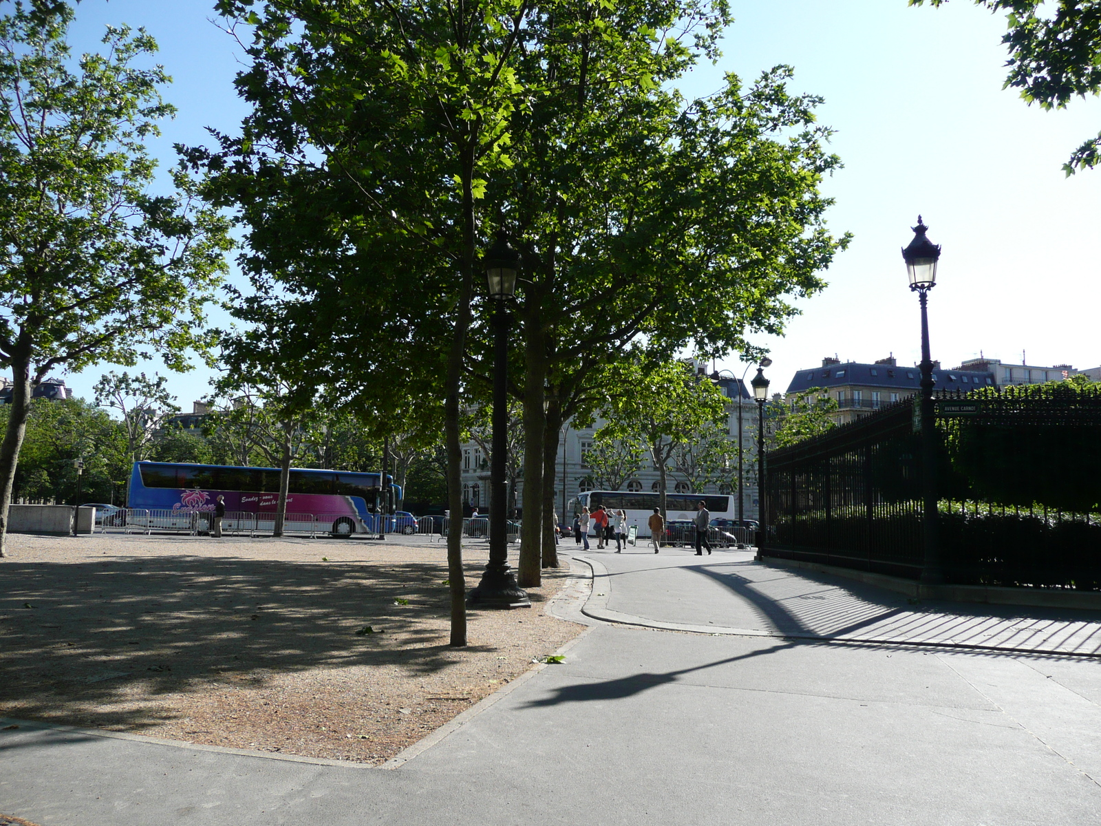
[[[451,645],[467,644],[467,585],[462,574],[462,444],[459,427],[459,392],[462,361],[470,326],[470,298],[475,273],[475,200],[473,139],[462,150],[462,271],[459,303],[455,316],[455,335],[447,356],[447,379],[444,388],[444,439],[447,449],[447,507],[450,520],[447,529],[447,577],[451,589]]]

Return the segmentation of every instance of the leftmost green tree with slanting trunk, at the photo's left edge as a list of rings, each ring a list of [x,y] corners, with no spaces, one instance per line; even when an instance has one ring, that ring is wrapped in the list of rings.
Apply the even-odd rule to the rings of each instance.
[[[34,387],[55,367],[132,365],[159,350],[186,368],[204,347],[203,305],[224,270],[226,221],[195,198],[153,196],[143,141],[173,109],[156,44],[108,28],[103,54],[72,59],[73,9],[15,2],[0,18],[0,367],[12,371],[0,444],[0,556]]]

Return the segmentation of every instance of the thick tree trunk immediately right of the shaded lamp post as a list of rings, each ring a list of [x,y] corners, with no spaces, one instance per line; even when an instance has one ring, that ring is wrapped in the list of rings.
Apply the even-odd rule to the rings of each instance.
[[[547,376],[544,334],[539,324],[538,302],[528,298],[535,312],[524,319],[524,513],[521,522],[520,570],[521,588],[537,588],[543,569],[543,384]]]

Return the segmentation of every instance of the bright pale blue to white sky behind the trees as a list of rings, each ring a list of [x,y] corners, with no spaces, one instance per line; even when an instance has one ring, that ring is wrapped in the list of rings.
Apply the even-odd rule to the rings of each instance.
[[[942,246],[929,295],[934,359],[955,367],[982,352],[1021,363],[1025,352],[1029,365],[1101,365],[1101,169],[1070,177],[1061,170],[1101,129],[1101,101],[1043,111],[1003,89],[1004,17],[968,0],[939,9],[906,0],[731,0],[731,9],[723,56],[679,87],[696,97],[717,90],[727,72],[750,83],[777,64],[794,67],[791,88],[825,98],[819,121],[836,130],[831,150],[844,164],[822,186],[836,199],[829,227],[853,233],[824,273],[827,289],[797,302],[802,314],[786,334],[751,336],[773,359],[765,370],[773,391],[826,356],[919,360],[917,296],[901,254],[918,214]],[[157,40],[157,59],[174,77],[165,97],[179,110],[152,146],[167,165],[174,143],[210,144],[207,127],[232,131],[246,112],[232,86],[241,48],[212,18],[208,0],[77,7],[75,51],[94,48],[107,23],[142,25]],[[218,314],[212,320],[228,323]],[[753,374],[737,355],[717,367]],[[91,399],[108,369],[65,379]],[[211,372],[201,367],[138,369],[167,374],[184,410],[209,392]]]

